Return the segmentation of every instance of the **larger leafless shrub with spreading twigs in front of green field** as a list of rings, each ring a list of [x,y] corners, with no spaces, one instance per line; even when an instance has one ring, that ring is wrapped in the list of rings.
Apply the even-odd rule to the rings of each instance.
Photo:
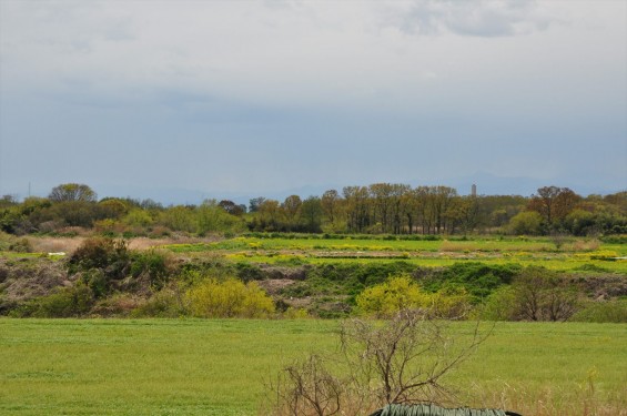
[[[437,403],[451,395],[442,377],[486,338],[478,329],[462,345],[429,311],[402,311],[383,325],[346,321],[341,343],[353,383],[368,386],[380,403]]]

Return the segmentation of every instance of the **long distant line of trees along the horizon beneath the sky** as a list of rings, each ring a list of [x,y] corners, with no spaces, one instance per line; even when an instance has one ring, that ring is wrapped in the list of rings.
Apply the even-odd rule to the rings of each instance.
[[[449,186],[375,183],[284,201],[263,196],[237,204],[206,200],[170,205],[104,197],[88,185],[65,183],[48,197],[0,199],[0,230],[22,235],[92,229],[114,235],[304,232],[364,234],[572,234],[627,233],[627,192],[582,196],[544,186],[530,196],[459,195]]]

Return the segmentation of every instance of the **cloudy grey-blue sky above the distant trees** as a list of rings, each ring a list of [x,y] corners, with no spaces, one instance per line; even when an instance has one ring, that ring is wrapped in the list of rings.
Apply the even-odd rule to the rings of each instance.
[[[0,0],[0,195],[69,182],[623,191],[627,1]]]

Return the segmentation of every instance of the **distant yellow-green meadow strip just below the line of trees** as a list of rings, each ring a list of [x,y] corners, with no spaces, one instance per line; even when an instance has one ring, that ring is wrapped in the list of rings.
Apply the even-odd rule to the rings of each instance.
[[[597,240],[548,237],[473,237],[472,240],[235,237],[212,243],[169,244],[176,254],[224,256],[236,262],[265,264],[364,263],[403,260],[421,266],[449,266],[459,261],[486,264],[517,263],[570,271],[595,266],[626,273],[626,244]]]

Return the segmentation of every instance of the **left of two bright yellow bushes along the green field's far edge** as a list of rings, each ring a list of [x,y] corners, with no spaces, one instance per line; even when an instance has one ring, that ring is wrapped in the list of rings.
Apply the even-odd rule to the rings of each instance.
[[[266,317],[274,313],[274,302],[256,282],[209,278],[190,288],[185,297],[198,317]]]

